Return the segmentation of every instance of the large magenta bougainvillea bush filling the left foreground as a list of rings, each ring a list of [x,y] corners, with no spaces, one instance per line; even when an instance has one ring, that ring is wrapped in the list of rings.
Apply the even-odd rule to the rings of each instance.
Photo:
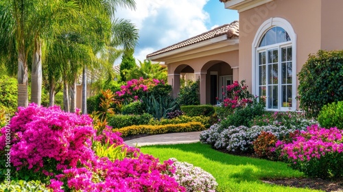
[[[0,152],[5,152],[5,129],[10,128],[12,175],[41,180],[54,191],[185,191],[167,174],[175,169],[170,160],[161,164],[127,145],[123,148],[132,158],[99,158],[92,150],[92,140],[125,144],[110,128],[96,135],[92,121],[79,112],[30,104],[19,108],[10,124],[1,129]],[[5,167],[0,165],[0,169]]]

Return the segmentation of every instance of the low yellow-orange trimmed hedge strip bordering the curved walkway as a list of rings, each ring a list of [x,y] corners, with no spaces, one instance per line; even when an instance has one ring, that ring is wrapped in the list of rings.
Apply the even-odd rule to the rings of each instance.
[[[167,124],[167,125],[132,125],[121,129],[114,129],[114,132],[121,132],[121,136],[137,134],[163,134],[169,132],[196,132],[206,130],[199,122]]]

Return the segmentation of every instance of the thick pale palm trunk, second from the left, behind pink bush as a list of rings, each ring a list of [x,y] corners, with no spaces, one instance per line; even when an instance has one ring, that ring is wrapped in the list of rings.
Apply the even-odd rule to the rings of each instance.
[[[40,106],[42,97],[42,45],[37,37],[34,40],[34,56],[31,71],[31,102]]]

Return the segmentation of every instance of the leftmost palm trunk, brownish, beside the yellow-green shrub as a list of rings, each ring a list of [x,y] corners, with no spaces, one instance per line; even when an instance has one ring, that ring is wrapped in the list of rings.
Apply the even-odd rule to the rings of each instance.
[[[25,49],[19,48],[18,53],[18,106],[27,107],[29,105],[29,95],[27,93],[27,63]]]

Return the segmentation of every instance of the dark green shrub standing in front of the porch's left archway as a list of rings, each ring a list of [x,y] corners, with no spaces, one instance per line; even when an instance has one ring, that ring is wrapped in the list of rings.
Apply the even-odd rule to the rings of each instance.
[[[187,84],[181,82],[180,93],[178,93],[178,104],[181,106],[196,106],[200,104],[199,80],[188,81]]]

